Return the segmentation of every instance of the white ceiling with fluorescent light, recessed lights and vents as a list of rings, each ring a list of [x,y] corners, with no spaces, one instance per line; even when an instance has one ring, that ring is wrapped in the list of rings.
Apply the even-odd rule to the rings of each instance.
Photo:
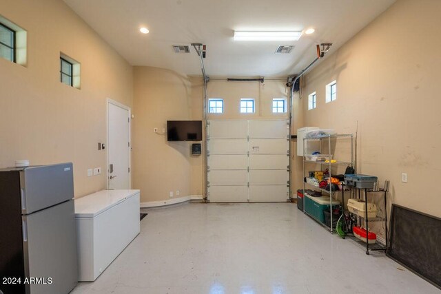
[[[64,0],[131,65],[201,74],[193,48],[207,45],[210,76],[287,76],[316,57],[316,43],[335,51],[396,0]],[[145,26],[149,34],[141,34]],[[299,41],[233,41],[234,30],[305,30]],[[274,54],[295,45],[291,54]]]

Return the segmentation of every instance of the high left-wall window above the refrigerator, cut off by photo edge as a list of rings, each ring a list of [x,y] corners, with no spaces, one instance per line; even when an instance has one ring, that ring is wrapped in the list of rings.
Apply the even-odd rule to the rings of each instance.
[[[26,65],[27,32],[0,15],[0,58]]]

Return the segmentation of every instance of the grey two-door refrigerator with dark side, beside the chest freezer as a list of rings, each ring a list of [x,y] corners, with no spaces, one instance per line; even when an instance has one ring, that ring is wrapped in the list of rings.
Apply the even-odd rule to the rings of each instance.
[[[69,293],[78,281],[72,163],[0,169],[0,293]]]

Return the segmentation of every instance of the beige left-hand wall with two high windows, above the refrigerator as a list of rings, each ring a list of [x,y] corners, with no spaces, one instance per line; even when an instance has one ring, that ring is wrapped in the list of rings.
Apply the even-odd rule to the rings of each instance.
[[[0,59],[0,167],[74,163],[75,196],[105,189],[106,97],[132,106],[132,67],[63,1],[0,0],[28,31],[28,65]],[[81,90],[59,81],[60,52],[81,63]],[[100,176],[87,169],[102,167]]]

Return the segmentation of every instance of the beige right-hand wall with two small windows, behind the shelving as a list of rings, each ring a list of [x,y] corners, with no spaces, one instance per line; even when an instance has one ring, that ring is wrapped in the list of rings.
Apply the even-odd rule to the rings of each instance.
[[[396,2],[307,74],[301,100],[305,125],[347,133],[358,120],[358,173],[391,180],[392,202],[438,217],[440,14],[440,1]],[[338,98],[325,103],[334,79]],[[308,111],[314,91],[317,109]]]

